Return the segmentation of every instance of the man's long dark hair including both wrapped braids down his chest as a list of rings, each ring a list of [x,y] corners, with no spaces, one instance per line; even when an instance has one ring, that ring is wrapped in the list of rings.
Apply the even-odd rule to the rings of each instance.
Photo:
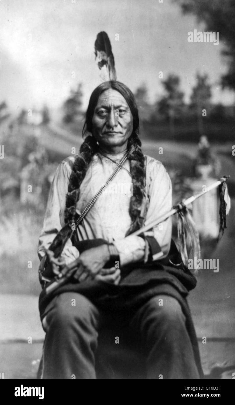
[[[105,90],[113,89],[118,91],[126,100],[131,114],[133,116],[133,131],[128,139],[127,147],[129,149],[128,159],[130,161],[130,172],[133,182],[133,196],[130,199],[129,214],[131,217],[131,226],[127,230],[126,236],[141,228],[144,223],[145,214],[141,212],[142,200],[144,198],[144,187],[146,185],[144,155],[141,150],[141,141],[138,137],[139,115],[135,103],[135,97],[129,88],[119,81],[106,81],[95,88],[91,94],[86,113],[86,121],[83,127],[83,135],[92,131],[92,118],[97,105],[98,98]],[[92,134],[92,132],[91,132]],[[50,245],[50,249],[56,252],[58,257],[68,238],[72,236],[71,225],[75,222],[76,203],[79,199],[80,185],[85,178],[87,168],[91,163],[92,156],[97,153],[98,146],[95,138],[88,135],[80,146],[79,154],[76,155],[70,175],[68,193],[66,194],[66,208],[64,212],[65,224],[57,234]],[[41,274],[40,274],[41,277]]]

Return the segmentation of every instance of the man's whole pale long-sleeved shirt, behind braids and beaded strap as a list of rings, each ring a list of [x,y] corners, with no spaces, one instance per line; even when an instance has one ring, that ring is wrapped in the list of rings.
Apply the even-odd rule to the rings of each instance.
[[[116,168],[116,164],[108,157],[120,161],[124,154],[125,151],[118,155],[106,154],[104,156],[97,153],[93,156],[85,178],[80,185],[79,199],[76,204],[78,214],[83,211],[87,203]],[[74,159],[74,156],[70,156],[59,164],[51,184],[43,227],[39,237],[38,256],[40,259],[44,256],[45,249],[49,248],[57,232],[64,226],[66,194]],[[146,187],[142,209],[144,212],[144,207],[147,208],[144,222],[144,225],[147,225],[170,211],[172,190],[171,180],[161,162],[145,155],[145,164]],[[107,190],[102,192],[95,205],[76,229],[79,240],[102,238],[114,243],[119,251],[121,265],[135,261],[137,253],[139,257],[140,249],[144,256],[145,250],[145,242],[142,238],[131,235],[125,238],[125,233],[131,225],[129,215],[131,192],[133,192],[131,184],[129,160],[127,160]],[[167,256],[171,242],[171,218],[145,232],[145,234],[155,237],[163,252],[162,257]],[[78,250],[72,246],[70,239],[64,247],[62,256],[66,262],[71,262],[79,256]]]

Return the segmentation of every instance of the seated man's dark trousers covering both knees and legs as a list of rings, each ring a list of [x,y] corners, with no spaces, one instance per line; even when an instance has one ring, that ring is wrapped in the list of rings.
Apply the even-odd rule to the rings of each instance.
[[[155,296],[135,313],[118,318],[130,341],[144,348],[147,378],[199,378],[185,316],[175,298]],[[109,320],[110,313],[81,294],[65,292],[53,298],[42,319],[42,378],[95,379],[98,333]],[[114,345],[117,337],[114,330]]]

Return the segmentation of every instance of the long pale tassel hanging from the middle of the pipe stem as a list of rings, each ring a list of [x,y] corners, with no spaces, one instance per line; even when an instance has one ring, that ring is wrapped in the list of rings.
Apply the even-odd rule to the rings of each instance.
[[[201,256],[201,248],[199,242],[199,234],[193,218],[191,217],[188,208],[183,204],[178,204],[178,249],[181,254],[184,266],[188,266],[188,259],[197,259]],[[196,273],[196,271],[194,272]]]

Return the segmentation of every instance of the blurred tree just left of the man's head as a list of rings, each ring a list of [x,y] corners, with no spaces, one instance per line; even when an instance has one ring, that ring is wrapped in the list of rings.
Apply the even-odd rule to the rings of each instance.
[[[64,122],[69,123],[76,120],[81,113],[82,97],[82,83],[78,83],[77,89],[71,90],[70,97],[64,102]]]

